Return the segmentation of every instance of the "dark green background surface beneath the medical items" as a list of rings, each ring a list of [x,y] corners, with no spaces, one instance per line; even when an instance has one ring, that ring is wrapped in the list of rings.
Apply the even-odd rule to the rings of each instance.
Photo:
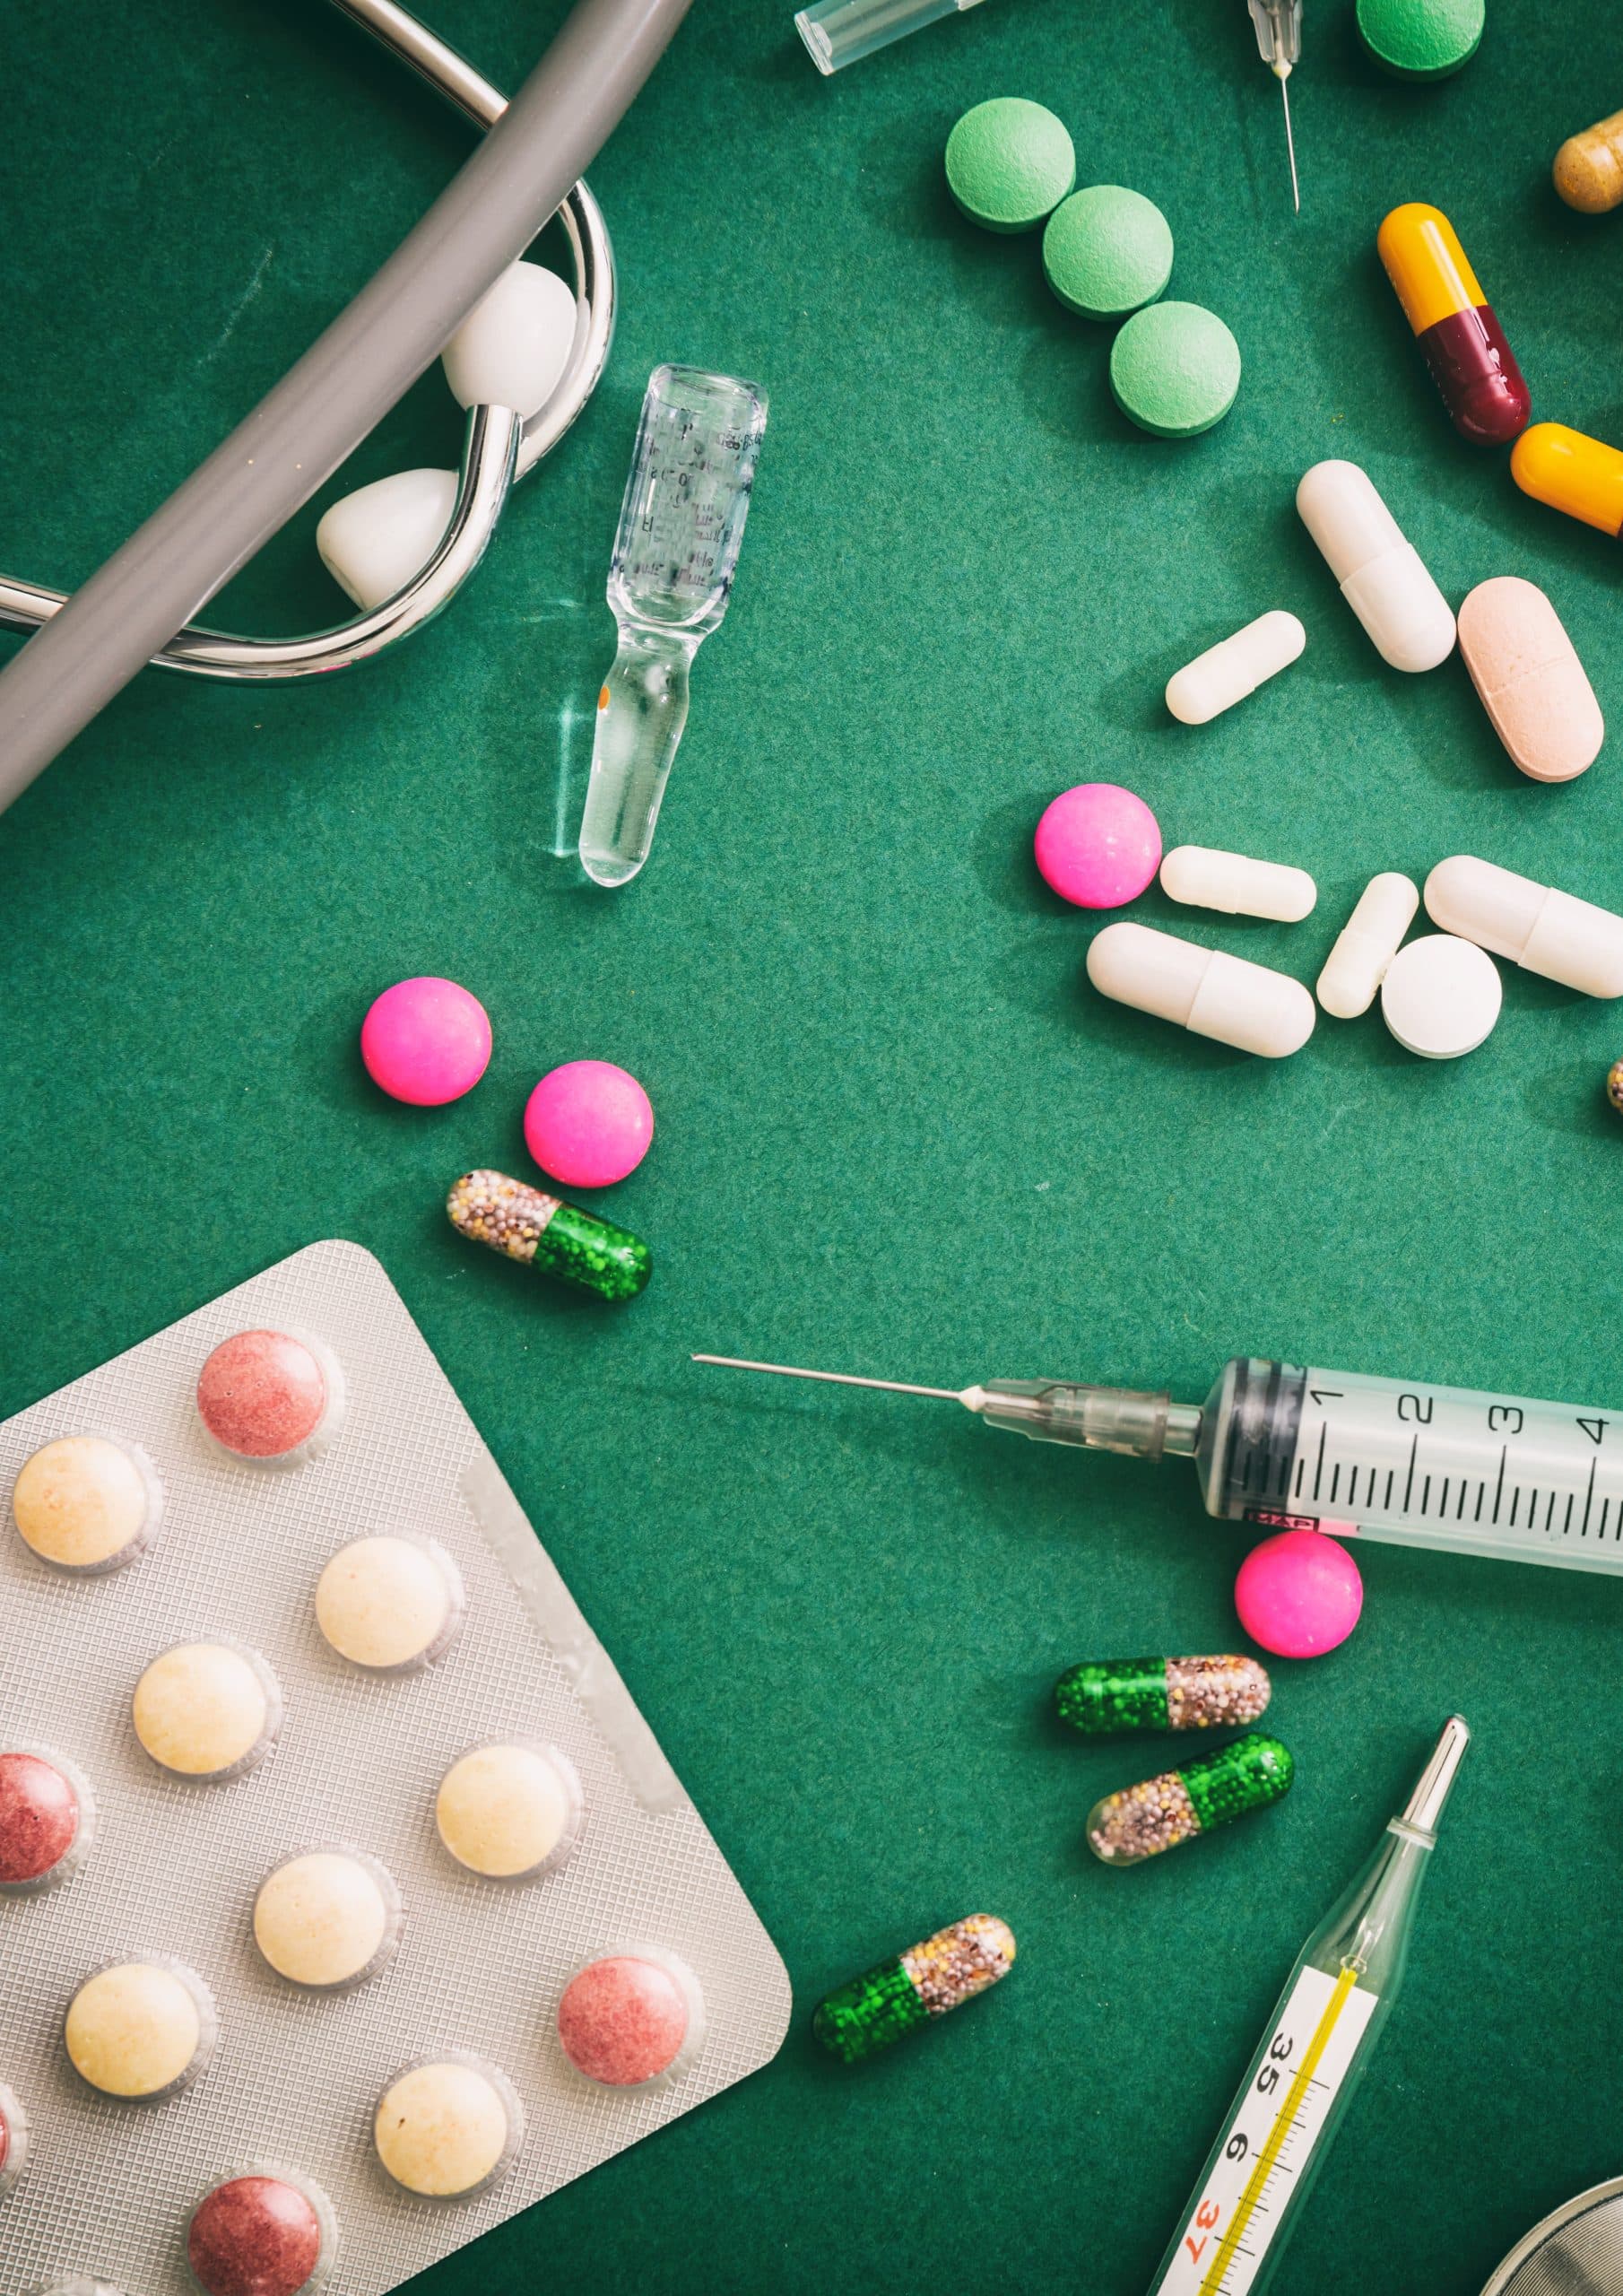
[[[434,5],[503,85],[558,16]],[[1494,0],[1430,90],[1366,64],[1348,0],[1309,0],[1306,39],[1292,220],[1240,0],[987,0],[833,83],[790,0],[700,0],[592,170],[624,285],[608,379],[468,595],[314,691],[147,675],[0,824],[0,1410],[317,1235],[370,1244],[794,1975],[767,2073],[434,2296],[1141,2289],[1299,1938],[1451,1706],[1478,1745],[1410,1988],[1279,2289],[1469,2296],[1623,2167],[1623,1584],[1364,1550],[1357,1637],[1279,1667],[1295,1795],[1106,1874],[1084,1812],[1164,1750],[1063,1743],[1047,1685],[1237,1635],[1244,1541],[1187,1469],[686,1364],[1198,1398],[1258,1350],[1623,1403],[1616,1010],[1508,971],[1460,1065],[1377,1017],[1267,1065],[1095,999],[1090,921],[1031,868],[1047,797],[1127,781],[1168,843],[1318,875],[1297,928],[1178,918],[1309,980],[1380,868],[1483,852],[1623,905],[1618,737],[1575,788],[1522,781],[1458,659],[1382,668],[1292,512],[1311,461],[1366,464],[1455,602],[1543,583],[1623,716],[1616,546],[1453,439],[1373,255],[1387,207],[1439,200],[1538,411],[1621,439],[1623,216],[1568,216],[1547,172],[1623,99],[1623,32]],[[0,535],[9,569],[71,585],[466,133],[317,0],[87,0],[18,9],[5,41]],[[987,94],[1051,103],[1081,181],[1166,209],[1171,292],[1244,351],[1219,429],[1132,432],[1109,331],[1054,303],[1035,239],[953,211],[941,145]],[[661,358],[760,377],[771,422],[652,863],[601,895],[553,847]],[[457,441],[432,374],[354,475]],[[328,618],[312,523],[216,618]],[[1173,726],[1166,675],[1265,606],[1302,613],[1304,661]],[[370,996],[413,971],[496,1024],[489,1077],[436,1114],[356,1058]],[[523,1093],[581,1054],[659,1111],[611,1199],[659,1261],[624,1313],[438,1212],[468,1164],[526,1169]],[[1019,1933],[1003,1991],[859,2076],[820,2062],[820,1993],[971,1908]]]

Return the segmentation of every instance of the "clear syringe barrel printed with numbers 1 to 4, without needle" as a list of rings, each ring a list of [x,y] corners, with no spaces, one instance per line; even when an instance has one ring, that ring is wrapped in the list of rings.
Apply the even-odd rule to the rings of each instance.
[[[1623,1573],[1623,1412],[1235,1357],[1196,1472],[1212,1515]]]

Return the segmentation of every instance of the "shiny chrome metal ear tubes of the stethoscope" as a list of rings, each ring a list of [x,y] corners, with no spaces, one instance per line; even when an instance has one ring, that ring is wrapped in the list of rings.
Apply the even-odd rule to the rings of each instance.
[[[333,0],[344,16],[374,34],[402,62],[420,71],[475,126],[500,119],[507,99],[466,57],[436,39],[395,0]],[[521,422],[507,406],[475,406],[461,448],[457,507],[429,563],[395,597],[310,638],[236,638],[188,622],[152,661],[161,670],[193,677],[285,680],[347,670],[367,661],[413,629],[434,620],[484,556],[496,533],[507,489],[551,455],[581,413],[608,358],[615,331],[615,257],[601,209],[585,184],[576,184],[558,209],[569,241],[576,292],[574,349],[551,400]],[[39,629],[62,606],[67,592],[0,574],[0,629]]]

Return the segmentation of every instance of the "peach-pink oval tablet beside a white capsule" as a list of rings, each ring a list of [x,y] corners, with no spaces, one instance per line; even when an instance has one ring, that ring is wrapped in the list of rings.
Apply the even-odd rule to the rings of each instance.
[[[1605,739],[1584,664],[1538,583],[1478,581],[1460,606],[1460,652],[1483,709],[1529,781],[1572,781]]]

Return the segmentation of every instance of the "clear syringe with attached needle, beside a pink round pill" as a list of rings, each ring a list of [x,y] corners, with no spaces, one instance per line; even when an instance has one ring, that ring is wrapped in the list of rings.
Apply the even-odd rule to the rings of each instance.
[[[907,1387],[696,1355],[962,1403],[987,1426],[1125,1458],[1191,1458],[1210,1515],[1338,1538],[1623,1573],[1623,1412],[1237,1355],[1205,1403],[1074,1380]]]

